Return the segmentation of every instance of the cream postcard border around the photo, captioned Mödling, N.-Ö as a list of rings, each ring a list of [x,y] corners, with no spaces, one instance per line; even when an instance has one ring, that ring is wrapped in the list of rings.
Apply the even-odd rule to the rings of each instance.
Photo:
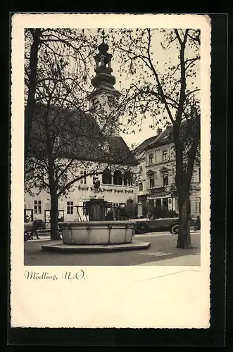
[[[210,18],[207,15],[15,14],[11,73],[11,326],[208,328],[210,318]],[[201,266],[25,267],[25,27],[201,29]],[[29,281],[25,270],[83,269],[85,280]]]

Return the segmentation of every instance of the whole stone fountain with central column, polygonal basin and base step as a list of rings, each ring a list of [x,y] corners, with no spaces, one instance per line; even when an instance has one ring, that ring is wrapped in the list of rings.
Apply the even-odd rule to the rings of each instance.
[[[132,220],[106,221],[106,203],[99,189],[99,180],[94,184],[94,193],[86,202],[89,221],[59,222],[63,243],[47,244],[49,251],[120,251],[126,249],[148,249],[149,242],[132,241]]]

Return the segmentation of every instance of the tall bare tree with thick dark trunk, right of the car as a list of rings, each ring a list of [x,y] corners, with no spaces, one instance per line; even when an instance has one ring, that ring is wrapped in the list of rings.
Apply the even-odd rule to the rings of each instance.
[[[144,118],[172,125],[175,143],[175,183],[178,193],[180,234],[177,247],[191,248],[190,185],[200,142],[200,30],[122,29],[109,30],[108,38],[119,58],[120,75],[131,80],[125,89],[129,123],[139,127]],[[156,38],[168,51],[160,66]],[[170,51],[169,51],[170,50]],[[172,53],[172,58],[169,56]]]

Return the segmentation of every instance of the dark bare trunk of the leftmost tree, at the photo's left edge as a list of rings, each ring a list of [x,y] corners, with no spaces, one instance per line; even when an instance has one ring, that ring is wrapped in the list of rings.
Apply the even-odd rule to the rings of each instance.
[[[33,44],[30,52],[30,74],[29,74],[29,87],[27,96],[27,105],[25,108],[25,161],[30,144],[30,133],[32,130],[32,115],[35,105],[35,92],[37,87],[37,61],[40,42],[41,30],[37,28],[33,34]]]

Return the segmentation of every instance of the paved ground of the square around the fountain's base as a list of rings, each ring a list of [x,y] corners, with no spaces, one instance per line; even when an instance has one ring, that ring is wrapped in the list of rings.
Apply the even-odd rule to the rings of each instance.
[[[141,265],[160,261],[156,265],[163,265],[163,260],[181,256],[194,255],[194,260],[187,260],[187,265],[200,265],[200,232],[191,233],[193,248],[177,249],[177,237],[169,232],[135,235],[134,241],[149,241],[149,249],[135,251],[121,251],[111,253],[50,253],[42,251],[42,244],[48,244],[48,239],[25,242],[25,265]],[[189,264],[189,262],[191,264]],[[172,260],[173,265],[181,265],[180,260]],[[184,263],[184,260],[182,261]],[[196,264],[194,264],[196,263]],[[166,265],[164,263],[164,265]],[[172,264],[171,264],[172,265]]]

